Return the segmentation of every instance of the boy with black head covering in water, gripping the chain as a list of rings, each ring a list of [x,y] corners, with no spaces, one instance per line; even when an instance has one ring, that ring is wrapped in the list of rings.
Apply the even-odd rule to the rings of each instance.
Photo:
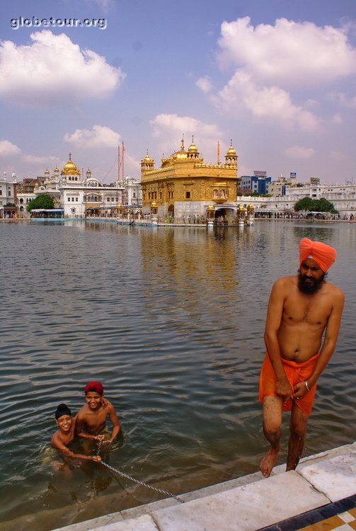
[[[51,444],[57,450],[61,450],[68,457],[77,459],[89,459],[90,461],[101,461],[99,455],[74,454],[69,450],[68,445],[74,439],[76,417],[71,416],[71,410],[66,404],[59,404],[55,412],[55,423],[59,430],[52,436]]]

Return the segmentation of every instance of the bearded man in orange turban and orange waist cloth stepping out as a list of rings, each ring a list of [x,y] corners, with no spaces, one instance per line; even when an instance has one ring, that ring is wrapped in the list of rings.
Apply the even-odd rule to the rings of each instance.
[[[263,402],[263,433],[270,443],[260,464],[265,477],[280,451],[282,411],[292,412],[286,470],[297,467],[304,448],[316,381],[335,350],[343,313],[343,292],[325,280],[335,258],[333,247],[303,238],[299,274],[280,278],[272,287],[258,398]]]

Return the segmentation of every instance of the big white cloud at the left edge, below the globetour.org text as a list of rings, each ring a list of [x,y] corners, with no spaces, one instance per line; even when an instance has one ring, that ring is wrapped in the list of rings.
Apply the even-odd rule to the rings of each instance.
[[[30,106],[108,98],[125,79],[93,50],[81,50],[67,35],[32,33],[31,45],[0,46],[0,98]]]

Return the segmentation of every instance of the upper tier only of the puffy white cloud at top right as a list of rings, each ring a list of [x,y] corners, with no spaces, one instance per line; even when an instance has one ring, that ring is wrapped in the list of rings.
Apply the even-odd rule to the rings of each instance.
[[[251,25],[249,17],[222,23],[222,65],[247,69],[255,80],[282,86],[322,84],[356,73],[356,50],[348,28],[318,27],[279,18]]]

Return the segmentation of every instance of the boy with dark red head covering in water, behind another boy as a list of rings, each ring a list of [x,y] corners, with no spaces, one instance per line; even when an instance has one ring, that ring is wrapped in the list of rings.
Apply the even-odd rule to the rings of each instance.
[[[88,382],[84,387],[86,404],[76,416],[75,433],[84,439],[101,440],[108,445],[120,431],[120,421],[110,402],[103,399],[104,388],[100,382]],[[106,419],[113,424],[111,434],[106,429]]]

